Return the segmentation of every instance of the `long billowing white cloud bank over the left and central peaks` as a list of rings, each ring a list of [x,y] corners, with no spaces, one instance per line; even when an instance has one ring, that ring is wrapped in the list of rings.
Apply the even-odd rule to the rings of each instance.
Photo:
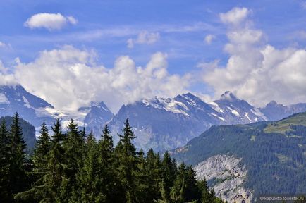
[[[18,62],[16,80],[59,109],[104,101],[114,112],[141,98],[175,96],[189,85],[189,75],[168,73],[167,56],[161,52],[153,54],[145,67],[120,56],[114,67],[106,68],[95,63],[96,56],[94,51],[71,46],[42,51],[31,63]]]

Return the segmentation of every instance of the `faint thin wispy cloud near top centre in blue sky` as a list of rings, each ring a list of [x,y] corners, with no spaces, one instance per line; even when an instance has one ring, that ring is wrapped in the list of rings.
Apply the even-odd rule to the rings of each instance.
[[[136,39],[130,38],[127,41],[128,48],[133,48],[134,44],[154,44],[160,39],[159,32],[142,31]]]

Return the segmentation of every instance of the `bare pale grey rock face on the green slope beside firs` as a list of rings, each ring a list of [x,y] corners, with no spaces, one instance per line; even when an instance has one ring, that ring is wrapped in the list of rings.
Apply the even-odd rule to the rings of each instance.
[[[228,202],[251,202],[252,191],[243,187],[247,169],[240,158],[228,155],[212,156],[194,167],[197,179],[206,178],[216,195]]]

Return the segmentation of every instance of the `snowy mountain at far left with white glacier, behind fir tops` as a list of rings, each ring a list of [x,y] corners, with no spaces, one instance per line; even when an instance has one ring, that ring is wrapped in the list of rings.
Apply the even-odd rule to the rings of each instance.
[[[73,119],[78,126],[86,126],[87,130],[94,132],[97,127],[104,125],[113,117],[113,113],[103,102],[92,102],[78,111],[61,111],[44,99],[30,94],[21,85],[0,86],[0,116],[12,116],[16,112],[20,118],[32,123],[37,133],[43,121],[51,126],[56,118],[61,119],[63,130]]]

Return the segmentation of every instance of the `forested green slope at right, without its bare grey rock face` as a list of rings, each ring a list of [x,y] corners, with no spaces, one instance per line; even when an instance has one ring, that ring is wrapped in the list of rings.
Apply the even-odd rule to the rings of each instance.
[[[247,169],[243,187],[255,195],[305,193],[306,113],[275,122],[213,126],[172,156],[196,166],[219,154],[241,159]]]

